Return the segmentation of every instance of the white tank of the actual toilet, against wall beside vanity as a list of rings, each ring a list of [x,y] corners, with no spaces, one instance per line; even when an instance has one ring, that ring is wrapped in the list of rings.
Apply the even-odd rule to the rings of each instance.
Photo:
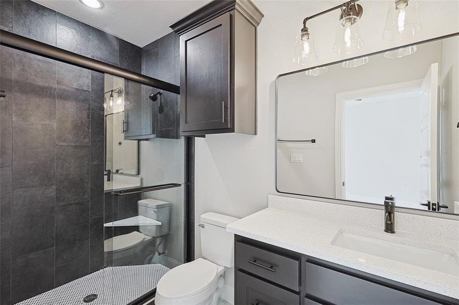
[[[201,251],[204,258],[221,266],[234,266],[234,234],[226,231],[226,225],[236,220],[213,212],[201,215]]]

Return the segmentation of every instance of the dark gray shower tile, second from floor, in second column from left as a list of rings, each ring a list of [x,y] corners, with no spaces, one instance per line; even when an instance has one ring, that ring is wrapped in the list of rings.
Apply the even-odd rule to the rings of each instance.
[[[13,190],[12,257],[54,246],[55,187]]]

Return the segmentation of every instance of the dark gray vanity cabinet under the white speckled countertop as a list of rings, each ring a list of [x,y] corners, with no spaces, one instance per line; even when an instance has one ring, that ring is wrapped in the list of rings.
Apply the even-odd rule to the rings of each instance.
[[[237,305],[459,303],[447,296],[238,235],[235,272]]]

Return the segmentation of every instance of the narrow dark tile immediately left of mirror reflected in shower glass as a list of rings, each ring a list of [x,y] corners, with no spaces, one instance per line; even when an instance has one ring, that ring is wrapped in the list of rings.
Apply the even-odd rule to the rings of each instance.
[[[91,110],[91,164],[103,164],[104,114]]]

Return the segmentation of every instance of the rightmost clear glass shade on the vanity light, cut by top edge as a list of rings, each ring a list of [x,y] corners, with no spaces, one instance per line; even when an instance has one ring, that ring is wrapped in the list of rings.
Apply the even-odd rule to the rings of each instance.
[[[415,0],[396,0],[389,6],[384,40],[401,40],[415,36],[421,31],[418,3]]]

